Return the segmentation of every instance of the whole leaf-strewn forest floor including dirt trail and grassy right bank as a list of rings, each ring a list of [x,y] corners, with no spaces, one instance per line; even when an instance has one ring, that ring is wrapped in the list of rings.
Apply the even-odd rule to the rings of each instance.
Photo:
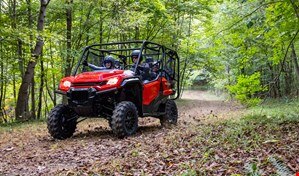
[[[137,134],[125,139],[114,137],[103,119],[83,121],[72,138],[62,141],[50,137],[45,122],[2,126],[0,175],[236,176],[299,171],[298,101],[251,111],[208,92],[186,91],[177,103],[177,126],[162,128],[159,120],[144,118]]]

